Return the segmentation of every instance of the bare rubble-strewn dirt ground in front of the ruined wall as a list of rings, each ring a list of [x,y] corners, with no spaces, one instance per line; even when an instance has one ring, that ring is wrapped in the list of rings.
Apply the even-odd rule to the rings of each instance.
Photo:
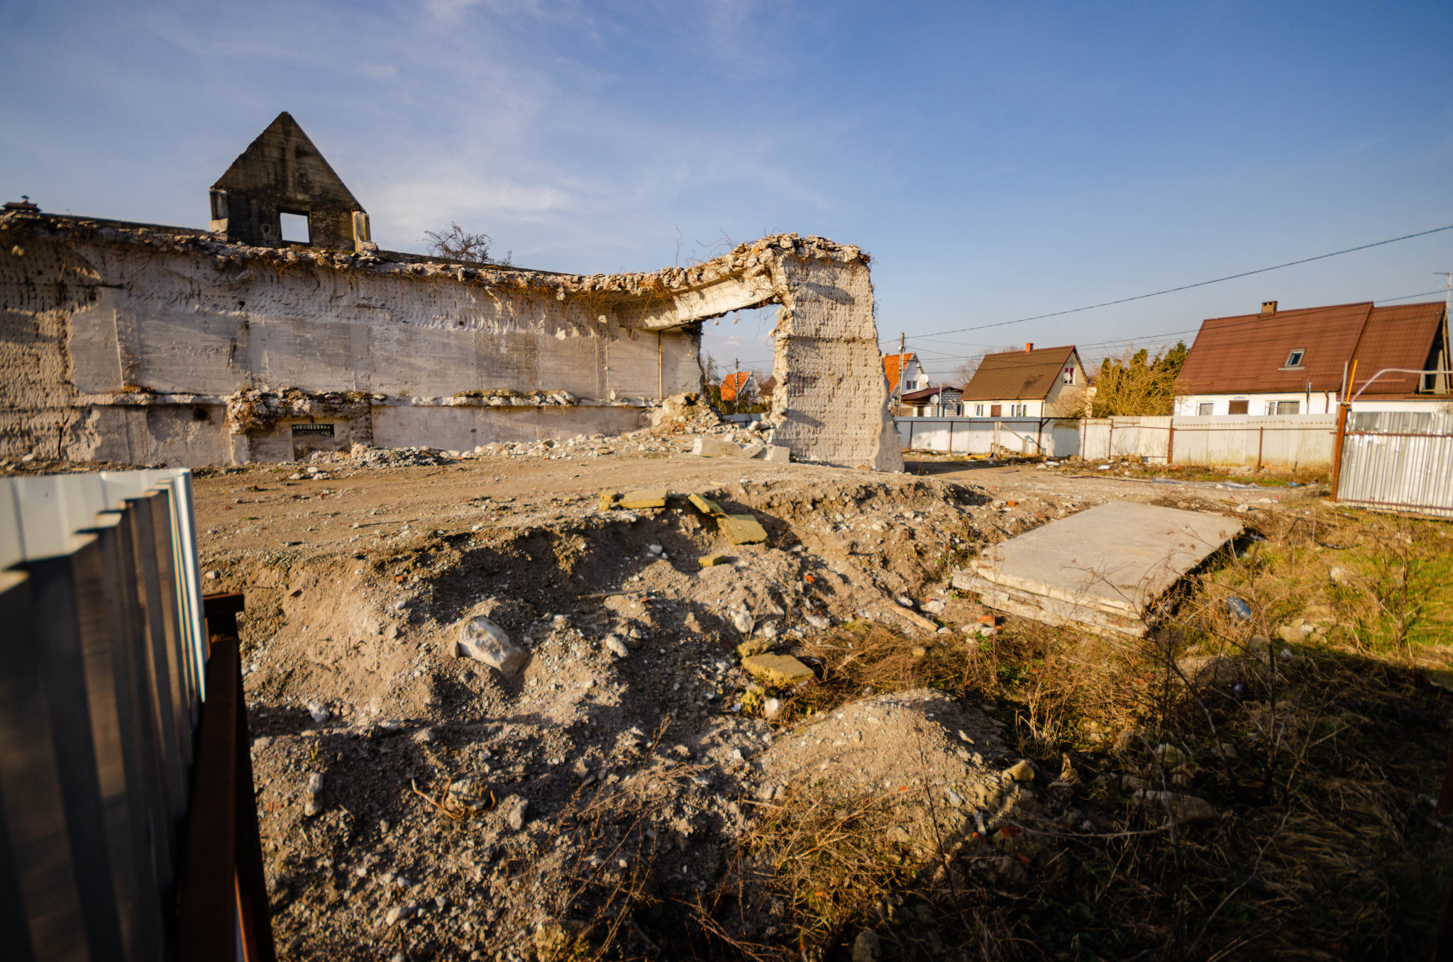
[[[838,955],[802,949],[793,905],[744,860],[763,818],[809,793],[882,799],[920,868],[979,846],[995,885],[1052,852],[1016,825],[1125,824],[1082,792],[1045,792],[1081,777],[1069,756],[1064,772],[1021,761],[997,698],[869,684],[814,714],[801,689],[760,686],[742,652],[821,676],[879,631],[912,645],[904,658],[958,657],[994,631],[949,587],[985,541],[1114,498],[1248,513],[1287,494],[1129,465],[703,459],[689,440],[198,472],[203,587],[246,594],[282,958],[895,958],[872,930],[835,933]],[[667,506],[603,510],[603,491],[635,490],[667,490]],[[731,543],[692,493],[756,516],[767,542]],[[478,615],[527,652],[517,674],[459,657]]]

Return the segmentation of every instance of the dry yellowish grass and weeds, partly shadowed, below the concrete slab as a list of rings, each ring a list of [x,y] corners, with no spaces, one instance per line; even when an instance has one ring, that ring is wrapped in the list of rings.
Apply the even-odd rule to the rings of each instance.
[[[1081,783],[1040,792],[1021,822],[1040,827],[1020,836],[1039,849],[1023,878],[985,873],[1001,856],[987,844],[939,866],[886,843],[867,798],[773,807],[747,852],[786,907],[776,958],[847,958],[865,927],[905,959],[1425,958],[1453,882],[1425,801],[1449,751],[1450,698],[1427,683],[1449,661],[1446,526],[1312,500],[1251,523],[1264,541],[1200,573],[1144,641],[1010,619],[972,647],[869,625],[809,644],[822,677],[785,722],[942,687],[1000,705],[1026,757]],[[1334,584],[1331,567],[1356,577]],[[1295,618],[1325,638],[1279,638]],[[1125,776],[1222,815],[1167,825]]]

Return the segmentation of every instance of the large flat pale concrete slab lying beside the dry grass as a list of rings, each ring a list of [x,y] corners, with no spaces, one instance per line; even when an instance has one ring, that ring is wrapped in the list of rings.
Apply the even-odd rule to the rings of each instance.
[[[1049,625],[1142,638],[1175,581],[1239,533],[1222,514],[1113,501],[994,545],[953,587]]]

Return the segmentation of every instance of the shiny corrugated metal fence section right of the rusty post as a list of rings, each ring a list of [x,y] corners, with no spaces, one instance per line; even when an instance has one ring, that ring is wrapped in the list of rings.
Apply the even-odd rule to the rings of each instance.
[[[1453,517],[1453,414],[1348,413],[1332,484],[1345,504]]]

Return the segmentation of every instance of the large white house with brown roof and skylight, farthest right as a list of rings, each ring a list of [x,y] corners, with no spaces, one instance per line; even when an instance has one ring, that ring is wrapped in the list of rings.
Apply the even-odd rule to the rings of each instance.
[[[1441,302],[1283,311],[1266,301],[1260,314],[1202,321],[1175,382],[1175,413],[1331,414],[1344,389],[1361,391],[1354,410],[1424,411],[1453,401],[1449,378],[1409,371],[1447,369],[1447,360]]]

